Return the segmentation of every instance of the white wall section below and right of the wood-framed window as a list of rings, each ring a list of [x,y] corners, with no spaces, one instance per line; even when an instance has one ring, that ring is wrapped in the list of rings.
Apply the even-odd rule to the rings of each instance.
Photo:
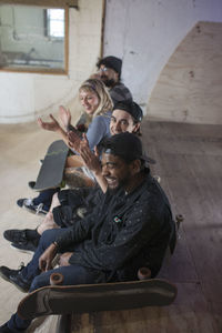
[[[33,121],[72,104],[100,56],[101,18],[101,0],[79,0],[79,10],[70,9],[68,75],[0,72],[0,123]]]

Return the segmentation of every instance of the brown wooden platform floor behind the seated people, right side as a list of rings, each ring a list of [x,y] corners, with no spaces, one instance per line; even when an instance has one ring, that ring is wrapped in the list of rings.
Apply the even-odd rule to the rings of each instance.
[[[168,307],[73,315],[72,332],[222,332],[222,127],[143,124],[143,141],[157,160],[153,173],[181,213],[178,248],[160,272],[178,286]]]

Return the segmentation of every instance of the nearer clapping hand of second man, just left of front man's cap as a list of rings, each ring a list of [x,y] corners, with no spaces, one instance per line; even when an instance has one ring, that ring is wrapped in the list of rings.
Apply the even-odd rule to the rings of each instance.
[[[82,135],[82,141],[80,142],[80,155],[82,160],[84,161],[84,164],[88,169],[90,169],[92,172],[98,173],[101,172],[101,163],[99,159],[99,151],[98,148],[94,148],[94,153],[90,150],[89,142],[87,139],[87,135]]]

